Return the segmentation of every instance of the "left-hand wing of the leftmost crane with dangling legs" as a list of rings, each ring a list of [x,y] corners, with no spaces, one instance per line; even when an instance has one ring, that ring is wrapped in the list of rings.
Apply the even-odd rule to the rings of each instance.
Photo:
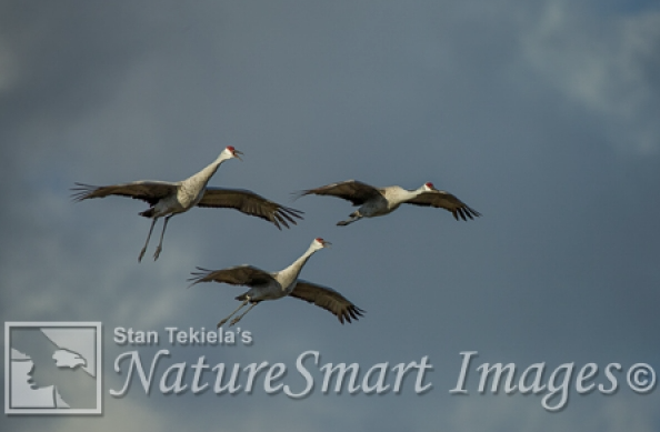
[[[104,198],[108,195],[130,197],[137,200],[147,201],[149,205],[156,204],[159,200],[172,193],[177,193],[178,183],[167,181],[141,180],[130,183],[96,187],[84,183],[76,183],[71,188],[73,201],[82,201],[90,198]]]

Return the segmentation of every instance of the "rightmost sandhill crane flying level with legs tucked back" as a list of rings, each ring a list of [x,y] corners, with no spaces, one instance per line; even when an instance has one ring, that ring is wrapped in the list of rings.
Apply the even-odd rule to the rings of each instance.
[[[449,210],[456,220],[460,217],[466,221],[467,218],[473,219],[473,217],[481,215],[451,193],[436,189],[431,182],[409,191],[398,185],[374,188],[357,180],[347,180],[301,191],[297,194],[297,198],[309,194],[331,195],[351,201],[353,205],[360,205],[358,210],[350,214],[350,219],[337,222],[341,227],[361,218],[374,218],[391,213],[404,203],[442,208]]]

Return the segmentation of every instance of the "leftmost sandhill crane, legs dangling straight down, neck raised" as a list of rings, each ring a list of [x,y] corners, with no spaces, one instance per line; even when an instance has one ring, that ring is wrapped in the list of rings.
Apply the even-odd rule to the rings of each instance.
[[[232,145],[228,145],[208,167],[199,171],[197,174],[178,182],[141,180],[106,187],[76,183],[77,188],[72,188],[74,191],[72,197],[74,201],[82,201],[90,198],[104,198],[108,195],[130,197],[147,201],[150,208],[139,214],[144,218],[150,218],[152,221],[149,234],[147,235],[147,241],[140,252],[140,257],[138,257],[138,261],[142,261],[142,257],[149,244],[149,239],[151,239],[153,225],[156,225],[158,218],[164,217],[164,222],[162,232],[160,233],[160,242],[153,253],[154,261],[158,259],[162,250],[162,239],[170,218],[174,214],[183,213],[192,209],[194,205],[237,209],[242,213],[266,219],[280,230],[280,223],[289,228],[287,221],[296,224],[293,218],[302,219],[300,215],[302,212],[300,210],[280,205],[254,192],[242,189],[207,187],[207,183],[216,171],[218,171],[218,168],[222,162],[233,158],[238,158],[242,161],[239,154],[243,153],[236,150]]]

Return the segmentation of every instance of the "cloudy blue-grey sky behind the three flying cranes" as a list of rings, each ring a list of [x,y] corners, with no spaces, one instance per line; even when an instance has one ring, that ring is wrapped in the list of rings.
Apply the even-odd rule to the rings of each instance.
[[[659,392],[633,392],[636,363],[660,372],[660,7],[650,0],[1,1],[0,311],[3,321],[101,321],[103,409],[94,418],[3,416],[3,430],[657,431]],[[176,181],[226,145],[244,152],[211,185],[306,212],[278,231],[231,210],[171,220],[160,259],[137,257],[144,203],[72,203],[74,182]],[[291,192],[359,179],[432,181],[483,217],[408,207],[349,227],[352,208]],[[156,234],[160,230],[157,227]],[[294,299],[240,323],[250,346],[118,345],[118,326],[213,329],[239,288],[187,290],[196,265],[279,270],[316,237],[333,243],[302,278],[367,311],[340,325]],[[156,240],[157,235],[154,235]],[[123,398],[116,359],[168,365],[420,362],[432,389],[301,400],[212,391]],[[468,394],[450,394],[477,351]],[[313,362],[306,364],[313,369]],[[517,378],[574,363],[559,412],[539,394],[480,394],[481,363]],[[578,370],[598,366],[578,394]],[[189,383],[191,372],[187,372]],[[244,382],[244,381],[243,381]],[[393,381],[390,381],[393,382]],[[4,381],[3,381],[4,383]],[[47,383],[48,384],[48,383]],[[47,385],[44,384],[44,385]],[[41,385],[41,384],[39,384]]]

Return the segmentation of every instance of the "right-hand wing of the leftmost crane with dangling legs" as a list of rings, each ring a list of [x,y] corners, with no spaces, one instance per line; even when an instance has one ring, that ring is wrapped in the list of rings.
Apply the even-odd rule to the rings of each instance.
[[[237,209],[246,214],[266,219],[279,230],[281,230],[280,223],[289,228],[287,221],[297,224],[293,218],[302,219],[301,214],[303,213],[243,189],[207,188],[197,205]]]

